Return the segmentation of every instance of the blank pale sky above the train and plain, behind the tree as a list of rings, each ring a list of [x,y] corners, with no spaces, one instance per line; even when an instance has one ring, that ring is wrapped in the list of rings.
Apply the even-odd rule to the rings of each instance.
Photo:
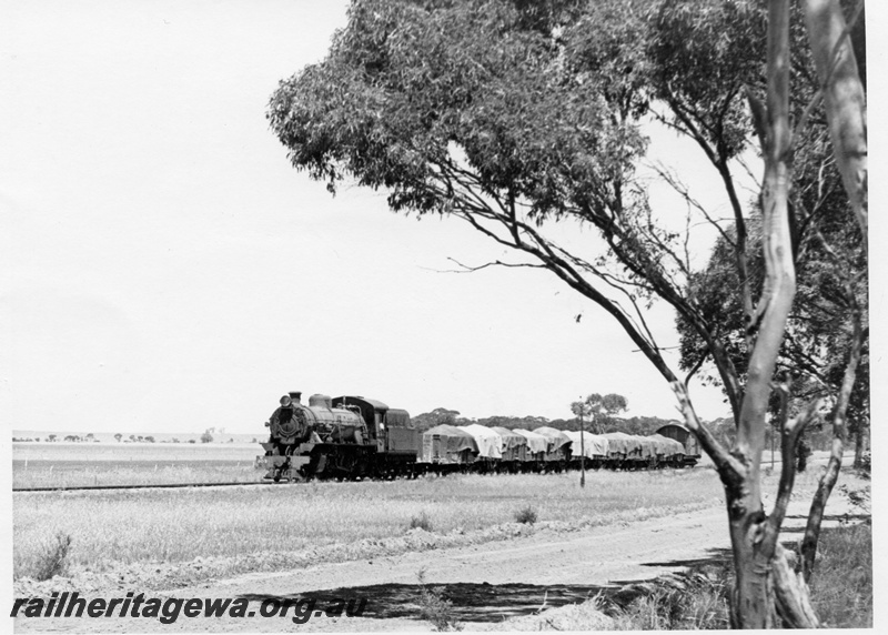
[[[323,58],[345,6],[6,4],[8,427],[261,433],[292,390],[549,419],[617,392],[629,414],[676,416],[616,323],[553,274],[446,273],[448,258],[508,254],[456,220],[396,215],[380,193],[331,198],[290,167],[265,104]],[[656,155],[726,209],[693,149],[653,134]],[[648,320],[677,343],[669,311]],[[717,390],[692,396],[705,419],[728,413]]]

